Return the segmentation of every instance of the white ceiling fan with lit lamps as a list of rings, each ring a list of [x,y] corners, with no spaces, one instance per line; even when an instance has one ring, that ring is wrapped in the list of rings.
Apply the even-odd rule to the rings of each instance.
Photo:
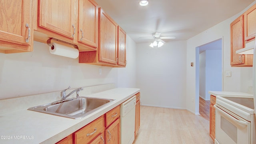
[[[154,39],[154,42],[152,42],[149,46],[154,48],[154,46],[158,46],[158,48],[160,48],[161,46],[164,45],[164,41],[162,39],[175,39],[175,36],[160,36],[161,33],[160,32],[156,32],[152,34],[152,39]]]

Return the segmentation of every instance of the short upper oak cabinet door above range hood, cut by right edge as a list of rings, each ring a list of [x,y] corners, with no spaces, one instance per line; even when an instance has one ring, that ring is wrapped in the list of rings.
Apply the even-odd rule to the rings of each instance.
[[[245,40],[250,40],[256,34],[256,4],[244,13],[244,20],[244,37]]]

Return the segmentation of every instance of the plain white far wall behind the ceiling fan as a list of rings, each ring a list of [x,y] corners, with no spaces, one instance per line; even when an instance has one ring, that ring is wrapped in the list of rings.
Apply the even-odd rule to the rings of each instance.
[[[160,48],[137,44],[137,88],[142,105],[186,108],[186,41]]]

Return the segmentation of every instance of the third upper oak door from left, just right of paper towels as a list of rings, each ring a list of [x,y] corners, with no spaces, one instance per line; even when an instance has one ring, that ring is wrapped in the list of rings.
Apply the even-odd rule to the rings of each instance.
[[[98,5],[94,0],[79,0],[78,40],[98,47]]]

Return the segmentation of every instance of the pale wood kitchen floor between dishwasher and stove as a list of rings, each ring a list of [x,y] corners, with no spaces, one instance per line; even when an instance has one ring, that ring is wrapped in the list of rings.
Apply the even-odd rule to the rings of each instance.
[[[141,106],[133,144],[214,144],[209,121],[187,110]]]

